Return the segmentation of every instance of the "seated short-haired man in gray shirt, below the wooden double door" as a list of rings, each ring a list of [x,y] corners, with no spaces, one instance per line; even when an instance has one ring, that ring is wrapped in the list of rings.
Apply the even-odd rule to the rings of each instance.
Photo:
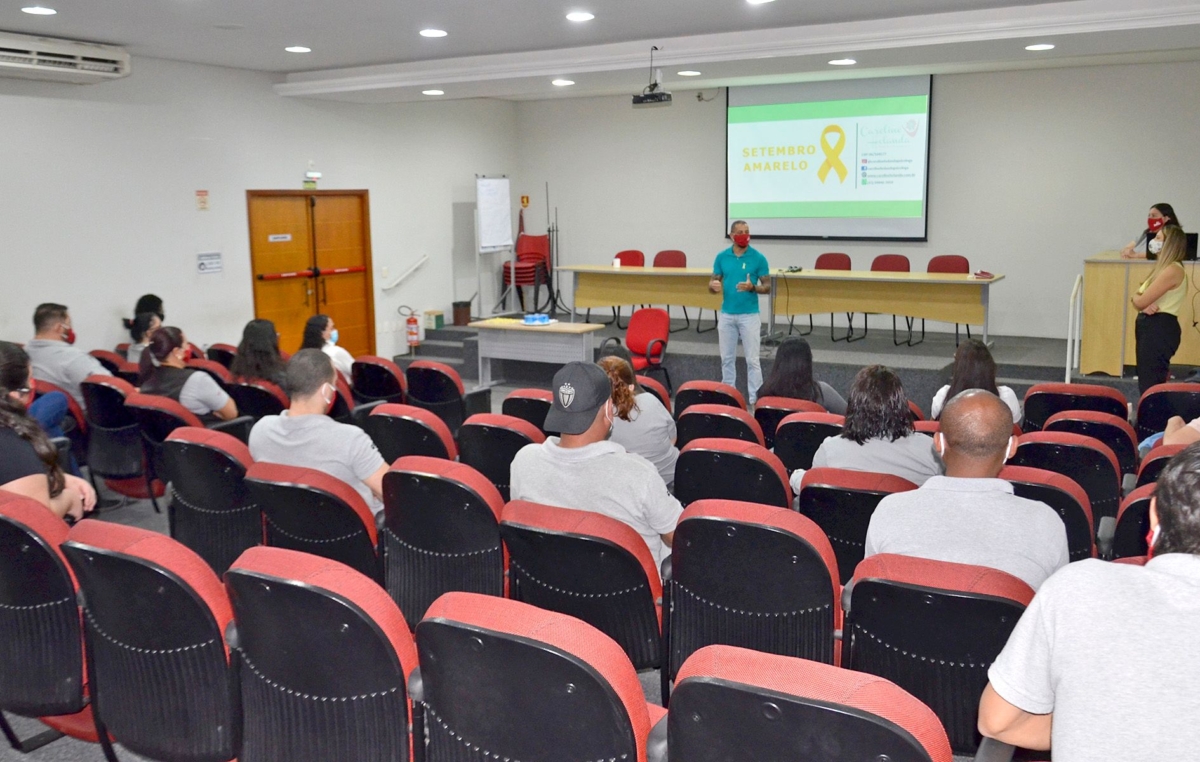
[[[254,424],[250,455],[256,461],[325,472],[354,487],[371,512],[378,514],[388,463],[365,431],[325,415],[337,394],[336,378],[332,362],[319,349],[293,355],[286,382],[292,407]]]

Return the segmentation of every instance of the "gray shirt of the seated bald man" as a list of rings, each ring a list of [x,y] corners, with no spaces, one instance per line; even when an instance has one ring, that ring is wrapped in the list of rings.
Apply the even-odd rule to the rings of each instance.
[[[880,500],[865,556],[896,553],[1008,572],[1034,590],[1067,565],[1067,527],[1003,479],[932,476]]]

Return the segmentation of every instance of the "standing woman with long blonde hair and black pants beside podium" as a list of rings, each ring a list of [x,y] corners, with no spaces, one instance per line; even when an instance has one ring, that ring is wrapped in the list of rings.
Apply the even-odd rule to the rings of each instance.
[[[1166,382],[1171,356],[1180,348],[1180,307],[1188,293],[1183,271],[1187,236],[1177,224],[1163,228],[1163,248],[1150,277],[1129,300],[1139,312],[1134,324],[1138,343],[1138,390],[1145,392]]]

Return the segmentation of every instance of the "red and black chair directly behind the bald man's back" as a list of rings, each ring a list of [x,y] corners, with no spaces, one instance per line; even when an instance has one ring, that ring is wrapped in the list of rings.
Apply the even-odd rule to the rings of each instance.
[[[1031,600],[995,569],[872,556],[842,596],[842,665],[893,680],[937,714],[955,754],[974,754],[988,667]]]

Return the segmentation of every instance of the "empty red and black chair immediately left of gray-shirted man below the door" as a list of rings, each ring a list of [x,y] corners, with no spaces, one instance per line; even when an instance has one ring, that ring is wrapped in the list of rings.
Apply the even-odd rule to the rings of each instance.
[[[212,571],[226,569],[263,541],[263,516],[250,499],[250,449],[220,431],[186,426],[162,446],[170,481],[170,536],[192,548]]]

